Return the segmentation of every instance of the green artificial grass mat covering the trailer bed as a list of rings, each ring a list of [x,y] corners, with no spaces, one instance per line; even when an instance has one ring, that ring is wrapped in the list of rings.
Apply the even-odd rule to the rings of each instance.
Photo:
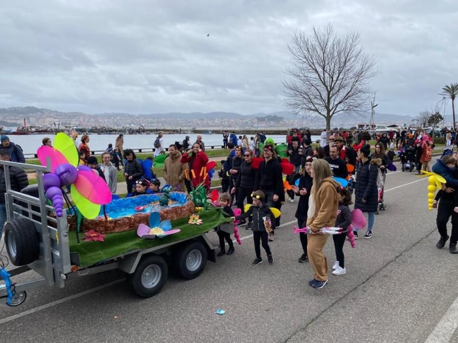
[[[81,243],[78,244],[75,232],[70,232],[70,252],[79,254],[81,267],[88,267],[128,251],[186,240],[208,232],[223,222],[230,221],[228,217],[223,215],[220,208],[202,212],[200,219],[202,219],[202,224],[200,225],[188,224],[189,218],[172,221],[172,228],[180,229],[181,232],[155,239],[140,238],[137,236],[136,230],[130,230],[119,233],[108,233],[105,237],[105,242],[84,242],[83,234],[81,233]]]

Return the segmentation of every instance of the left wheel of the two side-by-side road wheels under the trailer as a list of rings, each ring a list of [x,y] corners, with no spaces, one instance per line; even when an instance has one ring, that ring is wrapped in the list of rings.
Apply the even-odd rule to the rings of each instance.
[[[132,274],[127,275],[129,288],[137,295],[149,298],[161,291],[167,281],[167,263],[159,255],[146,255]]]

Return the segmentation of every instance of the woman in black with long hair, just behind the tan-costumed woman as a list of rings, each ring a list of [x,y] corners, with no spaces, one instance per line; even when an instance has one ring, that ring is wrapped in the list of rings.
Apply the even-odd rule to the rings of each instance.
[[[305,162],[303,175],[299,179],[299,186],[292,185],[291,189],[297,196],[299,196],[299,203],[297,204],[296,218],[297,227],[299,229],[307,226],[307,212],[308,212],[308,199],[310,191],[312,190],[313,179],[310,176],[312,172],[312,159],[310,158]],[[299,262],[307,262],[307,234],[299,233],[300,244],[302,245],[303,254],[299,257]]]

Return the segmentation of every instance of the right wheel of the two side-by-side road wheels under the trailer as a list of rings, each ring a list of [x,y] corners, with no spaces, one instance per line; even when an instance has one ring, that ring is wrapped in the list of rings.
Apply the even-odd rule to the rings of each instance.
[[[188,280],[194,279],[207,264],[207,249],[201,242],[191,241],[177,249],[172,259],[177,275]]]

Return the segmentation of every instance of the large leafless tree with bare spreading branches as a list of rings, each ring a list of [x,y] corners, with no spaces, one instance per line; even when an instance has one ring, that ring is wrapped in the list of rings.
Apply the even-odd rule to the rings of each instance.
[[[332,25],[313,27],[309,35],[293,34],[288,50],[292,66],[282,92],[291,110],[322,116],[330,129],[334,115],[370,109],[369,81],[378,69],[360,46],[359,33],[337,35]]]

